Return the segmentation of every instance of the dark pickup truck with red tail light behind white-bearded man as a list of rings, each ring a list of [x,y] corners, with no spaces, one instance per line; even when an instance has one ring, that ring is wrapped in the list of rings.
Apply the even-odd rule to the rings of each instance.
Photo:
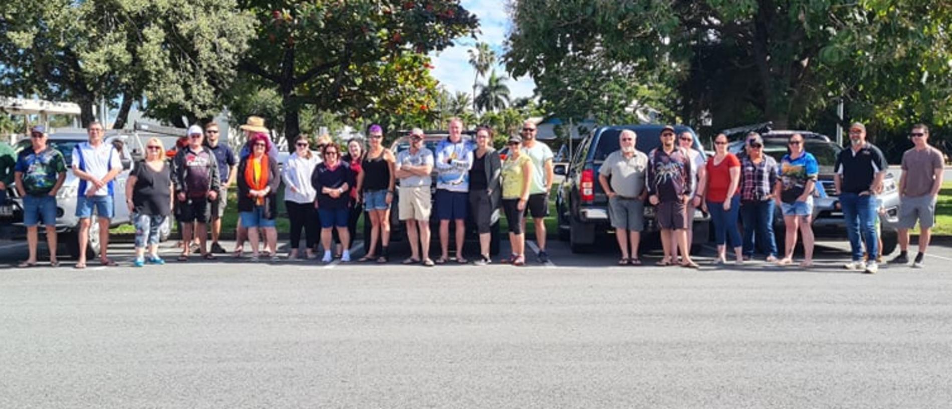
[[[689,127],[674,127],[678,134],[694,134],[694,149],[704,154],[698,136]],[[608,197],[598,182],[599,168],[608,153],[618,151],[618,135],[623,130],[638,134],[635,148],[647,154],[661,145],[663,125],[621,125],[597,128],[589,133],[573,153],[568,165],[556,165],[555,174],[565,175],[565,181],[555,196],[559,223],[559,238],[569,242],[573,253],[591,249],[598,235],[611,235],[608,220]],[[694,214],[694,242],[692,252],[708,241],[710,217],[700,210]],[[645,235],[659,235],[654,207],[645,203],[645,232],[642,243],[660,243],[661,239],[645,239]],[[659,235],[660,236],[660,235]]]

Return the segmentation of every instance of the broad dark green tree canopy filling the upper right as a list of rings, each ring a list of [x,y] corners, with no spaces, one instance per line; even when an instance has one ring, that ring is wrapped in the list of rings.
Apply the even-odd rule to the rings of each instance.
[[[545,101],[555,99],[545,93],[558,81],[550,77],[607,70],[660,84],[667,109],[687,121],[712,112],[721,125],[758,116],[784,127],[834,97],[872,87],[882,92],[873,95],[877,105],[909,83],[894,90],[890,78],[942,72],[937,66],[952,55],[950,7],[942,0],[517,0],[504,61],[514,76],[532,75]]]

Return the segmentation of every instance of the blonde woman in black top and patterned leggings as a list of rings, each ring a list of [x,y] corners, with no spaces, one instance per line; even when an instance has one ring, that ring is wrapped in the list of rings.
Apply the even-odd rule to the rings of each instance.
[[[132,265],[165,264],[159,256],[159,227],[172,207],[172,179],[165,147],[159,138],[146,142],[146,158],[137,162],[126,180],[129,215],[135,224],[135,260]],[[149,258],[145,257],[149,245]]]

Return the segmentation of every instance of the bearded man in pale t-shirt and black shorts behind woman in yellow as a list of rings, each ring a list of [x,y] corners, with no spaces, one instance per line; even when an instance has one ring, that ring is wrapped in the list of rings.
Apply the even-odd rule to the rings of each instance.
[[[540,263],[548,262],[548,253],[545,253],[545,216],[548,215],[548,193],[552,190],[552,180],[555,178],[552,166],[552,150],[542,142],[536,140],[538,129],[533,121],[523,123],[523,153],[532,159],[532,178],[529,179],[529,200],[526,203],[526,213],[532,216],[535,225],[536,244],[539,245],[537,254]],[[526,231],[526,219],[523,218],[523,232]]]

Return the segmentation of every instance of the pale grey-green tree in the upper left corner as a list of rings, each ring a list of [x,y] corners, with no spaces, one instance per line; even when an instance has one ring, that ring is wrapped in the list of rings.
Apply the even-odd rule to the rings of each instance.
[[[84,126],[102,99],[121,98],[117,126],[144,98],[160,117],[218,112],[217,94],[253,26],[234,0],[9,3],[0,14],[0,90],[74,101]]]

